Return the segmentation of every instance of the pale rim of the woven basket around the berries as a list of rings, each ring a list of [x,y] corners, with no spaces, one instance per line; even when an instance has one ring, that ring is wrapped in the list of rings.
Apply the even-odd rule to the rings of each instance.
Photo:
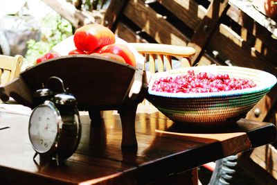
[[[224,96],[238,96],[243,94],[255,94],[261,91],[265,91],[265,93],[267,93],[267,91],[269,91],[272,87],[274,87],[274,85],[276,85],[276,82],[277,82],[276,76],[259,69],[211,65],[211,66],[201,66],[201,67],[188,67],[183,69],[172,69],[170,71],[154,73],[151,76],[149,87],[152,87],[154,80],[156,80],[160,76],[178,75],[179,73],[186,73],[190,69],[194,69],[196,71],[208,71],[208,69],[210,69],[211,71],[232,69],[232,70],[238,70],[238,71],[245,71],[245,73],[247,72],[256,73],[258,74],[259,77],[261,76],[261,78],[265,79],[265,83],[262,83],[262,85],[258,87],[252,87],[249,89],[237,89],[237,90],[231,90],[231,91],[219,91],[219,92],[207,92],[207,93],[169,93],[169,92],[153,91],[151,90],[151,88],[149,88],[148,94],[150,96],[162,96],[166,98],[215,98],[215,97],[224,97]]]

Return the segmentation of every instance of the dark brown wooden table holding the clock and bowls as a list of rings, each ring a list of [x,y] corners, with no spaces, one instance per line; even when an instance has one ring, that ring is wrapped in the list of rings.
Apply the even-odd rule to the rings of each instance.
[[[221,129],[193,129],[172,123],[160,112],[139,106],[137,149],[121,149],[118,114],[104,113],[91,125],[80,112],[82,138],[69,159],[45,163],[28,139],[26,115],[0,112],[0,184],[197,184],[196,167],[271,143],[276,127],[241,119]]]

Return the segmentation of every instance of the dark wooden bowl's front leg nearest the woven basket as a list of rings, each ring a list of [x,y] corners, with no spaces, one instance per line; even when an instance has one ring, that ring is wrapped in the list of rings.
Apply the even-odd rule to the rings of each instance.
[[[138,146],[135,130],[137,106],[137,104],[125,105],[118,110],[122,125],[122,148],[137,148]]]

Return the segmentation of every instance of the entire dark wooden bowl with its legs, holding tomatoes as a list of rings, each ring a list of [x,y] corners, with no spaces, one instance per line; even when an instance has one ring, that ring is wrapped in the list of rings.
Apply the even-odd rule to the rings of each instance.
[[[118,110],[122,123],[122,148],[136,148],[136,108],[145,98],[145,71],[127,64],[93,55],[69,55],[54,58],[20,73],[19,78],[0,87],[0,98],[34,108],[33,94],[42,89],[51,76],[57,76],[69,88],[79,110],[89,111],[91,123],[99,123],[100,111]]]

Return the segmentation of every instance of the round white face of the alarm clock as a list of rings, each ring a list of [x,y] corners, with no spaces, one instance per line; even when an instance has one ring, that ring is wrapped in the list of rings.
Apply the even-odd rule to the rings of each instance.
[[[48,152],[56,139],[60,115],[51,105],[39,105],[33,110],[29,121],[29,138],[39,153]]]

